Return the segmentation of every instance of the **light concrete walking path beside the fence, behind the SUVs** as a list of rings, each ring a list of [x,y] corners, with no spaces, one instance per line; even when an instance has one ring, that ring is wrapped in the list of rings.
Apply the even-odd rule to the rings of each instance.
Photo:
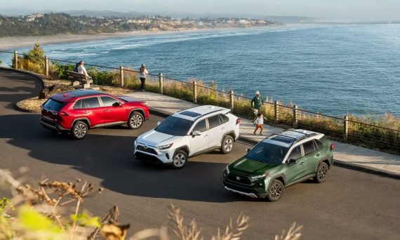
[[[130,95],[131,97],[139,100],[145,100],[149,104],[150,109],[154,112],[168,115],[178,112],[182,109],[198,106],[192,102],[187,102],[178,98],[172,98],[159,93],[135,92],[125,95]],[[264,128],[265,134],[277,133],[282,130],[283,128],[277,128],[267,124],[265,124]],[[253,131],[253,123],[248,119],[241,119],[241,140],[259,142],[265,138],[265,136],[253,135]],[[400,156],[398,155],[378,152],[375,150],[366,149],[364,147],[349,145],[343,142],[335,142],[335,146],[334,159],[336,164],[400,178]]]

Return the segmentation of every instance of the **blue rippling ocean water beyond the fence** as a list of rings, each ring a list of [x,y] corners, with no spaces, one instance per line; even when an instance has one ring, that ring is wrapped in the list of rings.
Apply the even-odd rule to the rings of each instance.
[[[151,74],[215,81],[246,96],[260,91],[331,116],[400,116],[399,24],[213,29],[42,47],[48,58],[135,69],[145,63]]]

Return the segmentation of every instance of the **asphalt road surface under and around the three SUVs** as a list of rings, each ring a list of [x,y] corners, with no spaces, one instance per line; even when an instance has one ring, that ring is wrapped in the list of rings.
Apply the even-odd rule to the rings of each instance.
[[[248,199],[221,186],[222,169],[248,145],[236,143],[228,155],[196,156],[180,171],[130,164],[136,136],[161,117],[152,116],[138,131],[96,129],[85,140],[72,140],[41,128],[38,114],[13,109],[40,88],[32,76],[0,70],[0,168],[18,175],[28,166],[34,179],[81,178],[102,186],[101,196],[84,206],[102,215],[117,204],[121,222],[131,222],[130,233],[168,225],[168,206],[175,204],[187,222],[196,218],[207,239],[241,212],[251,217],[243,239],[273,239],[294,221],[304,225],[302,239],[399,239],[399,180],[334,166],[324,184],[294,185],[276,203]]]

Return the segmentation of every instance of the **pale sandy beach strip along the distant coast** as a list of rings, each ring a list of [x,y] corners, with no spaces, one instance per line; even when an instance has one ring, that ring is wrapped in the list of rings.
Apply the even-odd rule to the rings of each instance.
[[[283,27],[283,26],[266,26],[266,27]],[[255,28],[255,27],[251,27]],[[0,38],[0,51],[15,50],[16,48],[24,48],[27,46],[33,47],[39,43],[40,46],[50,44],[67,44],[84,41],[96,41],[104,39],[121,39],[129,36],[145,36],[158,34],[173,34],[186,32],[210,32],[226,29],[245,29],[236,27],[221,27],[221,28],[202,28],[202,29],[179,29],[175,31],[132,31],[132,32],[114,32],[101,34],[57,34],[48,36],[6,36]]]

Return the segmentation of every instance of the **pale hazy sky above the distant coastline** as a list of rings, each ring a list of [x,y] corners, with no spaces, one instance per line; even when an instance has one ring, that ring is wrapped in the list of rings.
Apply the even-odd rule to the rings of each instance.
[[[400,20],[400,0],[0,0],[2,9],[240,13],[328,20]]]

